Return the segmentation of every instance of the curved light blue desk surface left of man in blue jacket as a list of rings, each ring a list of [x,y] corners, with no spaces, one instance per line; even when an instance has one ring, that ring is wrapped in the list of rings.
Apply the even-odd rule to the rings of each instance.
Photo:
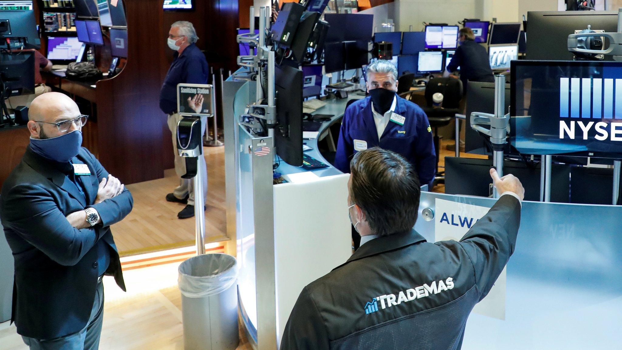
[[[316,170],[311,170],[317,176],[324,177],[324,176],[342,174],[341,171],[339,171],[337,168],[332,166],[332,164],[330,164],[330,162],[328,162],[322,156],[320,151],[318,151],[317,149],[317,144],[318,144],[320,136],[323,133],[330,132],[329,130],[330,126],[341,121],[341,118],[343,118],[343,113],[346,110],[346,104],[348,103],[348,101],[358,100],[363,97],[365,97],[364,93],[361,93],[361,95],[359,95],[359,93],[351,93],[347,98],[326,100],[325,102],[327,103],[325,106],[311,113],[312,115],[315,115],[315,114],[332,114],[333,115],[333,117],[330,118],[330,120],[324,121],[322,123],[322,126],[320,126],[320,129],[318,130],[318,134],[317,134],[318,138],[310,139],[310,140],[303,140],[304,144],[306,144],[310,148],[313,148],[313,149],[309,149],[309,151],[305,151],[304,152],[305,154],[309,154],[309,156],[312,156],[318,161],[328,164],[328,168],[320,168]],[[337,142],[337,140],[335,140],[335,142]],[[284,161],[281,161],[281,165],[279,166],[279,168],[276,169],[276,171],[278,171],[281,174],[287,175],[287,174],[295,174],[295,173],[304,173],[305,171],[309,171],[309,170],[303,169],[299,166],[291,166],[285,163]]]

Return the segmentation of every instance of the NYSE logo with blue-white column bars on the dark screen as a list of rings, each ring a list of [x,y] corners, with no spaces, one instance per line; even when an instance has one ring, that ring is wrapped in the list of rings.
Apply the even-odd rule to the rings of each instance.
[[[622,79],[560,78],[559,87],[560,139],[588,140],[594,130],[598,141],[622,141]]]

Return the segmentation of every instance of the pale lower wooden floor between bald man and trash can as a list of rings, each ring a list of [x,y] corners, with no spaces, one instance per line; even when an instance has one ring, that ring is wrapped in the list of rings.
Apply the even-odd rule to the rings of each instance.
[[[124,272],[128,293],[104,277],[104,321],[100,350],[182,350],[179,263]],[[0,350],[28,350],[15,325],[0,324]],[[241,337],[238,350],[251,350]]]

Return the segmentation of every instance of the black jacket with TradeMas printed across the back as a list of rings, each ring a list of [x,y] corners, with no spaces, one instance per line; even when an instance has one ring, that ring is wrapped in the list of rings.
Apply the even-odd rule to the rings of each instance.
[[[414,230],[361,245],[306,286],[281,350],[435,349],[462,346],[466,319],[514,252],[521,204],[502,196],[460,242]]]

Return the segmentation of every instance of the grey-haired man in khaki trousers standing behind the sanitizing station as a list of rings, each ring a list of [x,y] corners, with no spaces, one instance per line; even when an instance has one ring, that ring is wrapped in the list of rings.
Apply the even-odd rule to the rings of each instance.
[[[186,173],[185,159],[177,153],[177,123],[181,120],[177,110],[177,84],[207,84],[209,70],[207,60],[203,52],[195,45],[197,31],[192,23],[177,21],[170,26],[167,44],[171,50],[175,50],[175,60],[170,65],[169,72],[160,90],[160,109],[169,116],[168,125],[172,133],[173,153],[175,154],[175,173],[179,176],[179,186],[172,193],[166,195],[169,202],[180,202],[186,206],[177,214],[179,219],[187,219],[194,216],[194,183],[193,179],[182,179]],[[200,110],[202,96],[198,95],[187,101],[188,108]],[[205,134],[207,117],[201,118],[201,135]],[[198,166],[203,167],[203,199],[207,197],[207,166],[205,156],[199,157]],[[205,201],[203,201],[205,203]]]

